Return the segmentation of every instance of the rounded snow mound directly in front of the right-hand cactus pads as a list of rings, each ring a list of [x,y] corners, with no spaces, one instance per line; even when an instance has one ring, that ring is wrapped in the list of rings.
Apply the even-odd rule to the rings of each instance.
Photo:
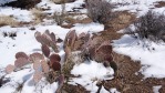
[[[104,68],[102,63],[86,61],[84,63],[74,65],[71,73],[75,76],[81,75],[81,78],[72,78],[70,80],[70,84],[80,84],[87,91],[91,91],[91,93],[95,93],[99,89],[96,86],[96,82],[102,80],[112,80],[114,71],[112,68]],[[104,87],[102,87],[102,93],[109,93]]]

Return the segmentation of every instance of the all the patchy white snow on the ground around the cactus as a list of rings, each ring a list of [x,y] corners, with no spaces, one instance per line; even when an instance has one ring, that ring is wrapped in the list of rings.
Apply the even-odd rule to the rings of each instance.
[[[13,0],[0,0],[0,4]],[[113,3],[122,3],[118,6],[115,11],[128,10],[130,12],[134,12],[137,17],[143,16],[149,9],[154,8],[155,2],[163,0],[111,0]],[[73,8],[80,7],[83,0],[76,0],[75,2],[66,3],[66,11],[72,11]],[[45,10],[44,12],[53,13],[61,11],[61,4],[54,4],[50,0],[42,0],[41,3],[37,6],[38,8],[43,8],[50,10]],[[156,8],[153,9],[157,12],[163,12],[165,8]],[[82,9],[80,12],[85,13],[86,10]],[[21,10],[19,8],[14,9],[11,7],[0,7],[0,14],[12,16],[18,21],[30,22],[33,21],[32,12],[29,10]],[[34,27],[35,30],[30,30],[31,27]],[[38,24],[38,25],[29,25],[29,27],[19,27],[11,28],[9,25],[0,28],[0,66],[6,68],[8,64],[14,63],[14,54],[17,52],[23,51],[27,54],[33,52],[41,52],[41,44],[37,42],[34,39],[34,32],[40,31],[44,32],[49,30],[50,32],[54,32],[55,35],[63,39],[65,34],[70,30],[75,30],[79,34],[81,32],[100,32],[104,29],[103,24],[100,23],[87,23],[81,24],[76,23],[71,29],[64,29],[56,24]],[[17,37],[11,39],[9,37],[3,37],[3,32],[17,32]],[[146,42],[147,43],[147,42]],[[146,44],[145,43],[145,44]],[[133,60],[138,60],[144,65],[140,72],[142,72],[145,78],[165,78],[165,43],[149,43],[148,48],[144,46],[144,43],[140,40],[133,39],[130,35],[123,35],[120,40],[115,40],[113,43],[114,51],[124,55],[131,56]],[[153,50],[154,49],[154,50]],[[61,50],[60,55],[63,56],[64,52]],[[45,79],[34,85],[32,81],[32,74],[34,70],[24,69],[19,72],[12,72],[11,74],[6,75],[6,78],[10,78],[11,81],[0,87],[0,92],[3,93],[13,93],[20,83],[23,83],[23,87],[21,93],[54,93],[58,87],[58,83],[54,82],[49,84]],[[71,71],[74,75],[81,75],[81,78],[70,79],[70,84],[76,85],[81,84],[87,91],[95,93],[97,91],[96,81],[106,80],[107,75],[112,75],[109,80],[113,79],[113,70],[111,68],[104,68],[103,64],[91,61],[91,63],[84,62],[80,65],[74,65]],[[4,74],[4,73],[1,73]],[[1,75],[0,75],[1,76]],[[159,86],[153,87],[155,92],[159,89]],[[118,93],[115,89],[110,89],[112,93]],[[101,90],[101,93],[109,93],[104,87]]]

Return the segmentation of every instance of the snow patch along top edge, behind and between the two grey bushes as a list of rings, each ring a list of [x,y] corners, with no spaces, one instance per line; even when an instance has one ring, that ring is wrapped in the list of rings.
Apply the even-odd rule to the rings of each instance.
[[[154,4],[163,0],[110,0],[112,3],[117,4],[114,11],[124,11],[136,13],[137,17],[145,14],[148,10],[157,10]],[[162,12],[161,12],[162,13]]]

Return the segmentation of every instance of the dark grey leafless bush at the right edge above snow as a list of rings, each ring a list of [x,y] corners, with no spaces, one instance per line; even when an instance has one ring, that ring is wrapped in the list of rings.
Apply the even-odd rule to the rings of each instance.
[[[134,22],[133,28],[127,28],[126,31],[141,40],[165,41],[165,16],[148,11]]]

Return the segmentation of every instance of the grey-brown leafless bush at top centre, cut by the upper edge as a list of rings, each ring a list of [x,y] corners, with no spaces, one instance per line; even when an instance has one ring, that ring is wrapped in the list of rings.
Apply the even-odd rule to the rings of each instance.
[[[86,0],[87,16],[94,21],[106,23],[112,19],[113,6],[106,0]]]

